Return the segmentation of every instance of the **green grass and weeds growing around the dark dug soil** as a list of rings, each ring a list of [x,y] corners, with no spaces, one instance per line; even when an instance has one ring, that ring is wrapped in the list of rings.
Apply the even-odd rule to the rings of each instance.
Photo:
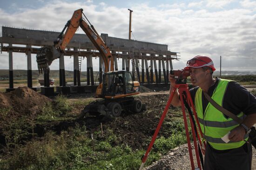
[[[36,123],[74,120],[70,113],[73,107],[88,104],[88,100],[69,103],[64,96],[57,96],[53,103],[42,108],[40,116],[28,121],[25,115],[8,122],[6,126],[7,150],[0,155],[0,170],[137,170],[144,149],[133,150],[123,144],[112,129],[91,134],[85,126],[76,124],[57,135],[47,132],[43,137],[32,138]],[[11,109],[11,108],[10,108]],[[4,116],[9,108],[0,109]],[[175,109],[178,112],[180,109]],[[183,119],[168,117],[163,126],[171,129],[168,137],[158,137],[145,166],[158,160],[170,149],[186,143]],[[46,124],[47,125],[47,124]],[[151,137],[147,139],[147,142]]]

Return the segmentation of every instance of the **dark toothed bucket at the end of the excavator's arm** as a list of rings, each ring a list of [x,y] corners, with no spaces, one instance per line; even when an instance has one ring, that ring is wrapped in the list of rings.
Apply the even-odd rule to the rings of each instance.
[[[54,59],[59,58],[61,53],[56,50],[54,46],[44,46],[38,49],[36,54],[36,62],[38,66],[39,73],[43,74],[47,72],[50,68],[49,65],[54,61]]]

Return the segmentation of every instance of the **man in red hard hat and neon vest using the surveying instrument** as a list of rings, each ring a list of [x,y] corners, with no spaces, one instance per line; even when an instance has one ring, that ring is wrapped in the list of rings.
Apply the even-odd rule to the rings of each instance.
[[[196,86],[189,91],[207,142],[204,170],[250,170],[252,148],[248,136],[250,127],[256,123],[256,97],[237,82],[214,78],[216,69],[207,56],[195,56],[184,69],[190,69],[191,83]],[[169,75],[169,81],[171,93],[175,87],[173,75]],[[243,122],[223,114],[209,103],[204,93]],[[177,90],[171,104],[181,105]],[[228,142],[222,140],[226,134]]]

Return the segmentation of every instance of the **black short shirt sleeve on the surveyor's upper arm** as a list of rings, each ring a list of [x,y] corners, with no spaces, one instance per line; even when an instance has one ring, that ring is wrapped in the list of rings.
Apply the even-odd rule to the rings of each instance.
[[[256,97],[237,82],[229,82],[222,104],[236,115],[256,113]]]

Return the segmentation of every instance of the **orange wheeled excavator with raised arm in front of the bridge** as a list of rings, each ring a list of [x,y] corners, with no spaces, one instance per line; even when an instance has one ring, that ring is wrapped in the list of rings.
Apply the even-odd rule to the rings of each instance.
[[[91,25],[83,13],[83,9],[74,11],[72,18],[67,21],[53,46],[47,45],[38,50],[36,61],[39,72],[42,74],[49,71],[49,66],[53,60],[61,57],[79,27],[99,50],[100,57],[104,62],[103,81],[97,87],[95,94],[96,98],[102,99],[87,105],[82,110],[81,115],[84,116],[86,113],[90,113],[115,118],[121,115],[122,110],[132,110],[139,113],[145,109],[145,105],[142,105],[140,100],[133,97],[133,95],[140,93],[140,83],[133,81],[129,71],[114,70],[114,59],[107,44],[94,29],[94,26]]]

